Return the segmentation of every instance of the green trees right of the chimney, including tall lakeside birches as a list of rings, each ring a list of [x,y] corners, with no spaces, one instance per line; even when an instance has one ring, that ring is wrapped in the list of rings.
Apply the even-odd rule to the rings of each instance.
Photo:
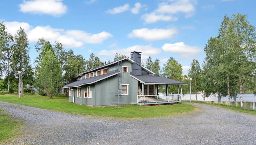
[[[231,18],[224,16],[218,36],[211,37],[205,45],[206,57],[202,67],[198,60],[191,62],[188,75],[182,75],[182,66],[170,57],[163,68],[159,59],[154,62],[148,57],[146,66],[156,74],[190,84],[196,94],[203,97],[217,95],[218,103],[227,96],[228,105],[233,98],[236,104],[237,95],[243,107],[242,93],[251,91],[256,94],[256,33],[246,15],[234,14]],[[183,93],[188,93],[190,85],[183,87]],[[162,91],[165,91],[162,88]],[[177,86],[169,86],[169,92],[177,92]]]

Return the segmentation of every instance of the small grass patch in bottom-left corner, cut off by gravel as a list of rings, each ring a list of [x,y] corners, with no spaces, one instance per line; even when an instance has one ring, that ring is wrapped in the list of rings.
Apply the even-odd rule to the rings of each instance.
[[[0,142],[18,135],[15,129],[18,124],[17,120],[13,120],[3,110],[0,110]]]

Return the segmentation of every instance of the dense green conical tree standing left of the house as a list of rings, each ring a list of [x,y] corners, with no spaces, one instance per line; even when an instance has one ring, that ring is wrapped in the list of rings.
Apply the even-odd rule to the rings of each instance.
[[[55,93],[56,88],[63,85],[62,71],[54,53],[49,50],[42,58],[42,62],[37,68],[36,86],[47,93],[49,97]]]

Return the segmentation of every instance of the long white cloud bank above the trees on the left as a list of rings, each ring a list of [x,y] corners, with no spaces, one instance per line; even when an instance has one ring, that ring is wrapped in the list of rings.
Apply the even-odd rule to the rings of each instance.
[[[51,43],[60,41],[66,48],[79,48],[86,43],[102,43],[104,40],[112,37],[112,34],[105,31],[91,34],[82,30],[64,30],[52,28],[51,26],[36,26],[32,28],[28,23],[23,22],[5,22],[5,25],[11,34],[15,34],[19,27],[22,27],[28,34],[30,42],[36,42],[38,38],[45,38]]]

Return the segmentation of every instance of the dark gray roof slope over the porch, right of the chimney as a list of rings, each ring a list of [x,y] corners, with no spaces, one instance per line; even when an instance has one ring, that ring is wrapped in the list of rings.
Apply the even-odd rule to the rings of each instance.
[[[141,75],[136,76],[133,74],[130,74],[131,77],[134,79],[141,81],[143,84],[163,84],[163,85],[187,85],[187,83],[183,83],[180,81],[175,81],[167,78],[163,78],[157,75]]]

